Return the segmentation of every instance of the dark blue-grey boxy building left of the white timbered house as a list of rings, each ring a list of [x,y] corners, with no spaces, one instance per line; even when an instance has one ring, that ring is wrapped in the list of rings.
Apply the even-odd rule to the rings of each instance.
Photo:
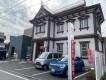
[[[10,57],[13,57],[14,53],[17,53],[18,59],[26,60],[27,57],[31,56],[30,53],[31,41],[32,41],[31,33],[32,33],[31,29],[27,29],[24,31],[24,35],[10,37],[10,47],[9,47]]]

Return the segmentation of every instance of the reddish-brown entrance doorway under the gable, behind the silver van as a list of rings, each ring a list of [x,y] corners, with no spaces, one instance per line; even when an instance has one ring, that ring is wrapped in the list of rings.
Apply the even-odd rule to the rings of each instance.
[[[37,42],[36,45],[36,58],[39,57],[39,55],[44,52],[44,42],[43,41],[39,41]]]

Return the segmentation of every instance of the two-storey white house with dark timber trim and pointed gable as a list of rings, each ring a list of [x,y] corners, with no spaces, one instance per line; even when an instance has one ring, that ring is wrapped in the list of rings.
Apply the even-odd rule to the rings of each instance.
[[[74,25],[75,53],[87,58],[87,48],[103,52],[101,24],[104,21],[101,5],[73,4],[54,13],[42,5],[30,22],[33,24],[33,61],[42,51],[68,54],[68,27]]]

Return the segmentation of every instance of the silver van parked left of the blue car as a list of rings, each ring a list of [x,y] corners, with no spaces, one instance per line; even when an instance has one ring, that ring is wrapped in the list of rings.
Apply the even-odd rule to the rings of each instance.
[[[62,58],[62,53],[53,53],[53,52],[43,52],[35,60],[35,68],[41,68],[44,70],[49,69],[49,63],[54,59]]]

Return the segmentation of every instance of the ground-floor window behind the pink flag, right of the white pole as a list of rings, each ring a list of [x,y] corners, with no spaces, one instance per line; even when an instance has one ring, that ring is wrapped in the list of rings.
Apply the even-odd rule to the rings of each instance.
[[[89,48],[89,41],[80,42],[80,53],[84,58],[87,57],[87,48]]]

